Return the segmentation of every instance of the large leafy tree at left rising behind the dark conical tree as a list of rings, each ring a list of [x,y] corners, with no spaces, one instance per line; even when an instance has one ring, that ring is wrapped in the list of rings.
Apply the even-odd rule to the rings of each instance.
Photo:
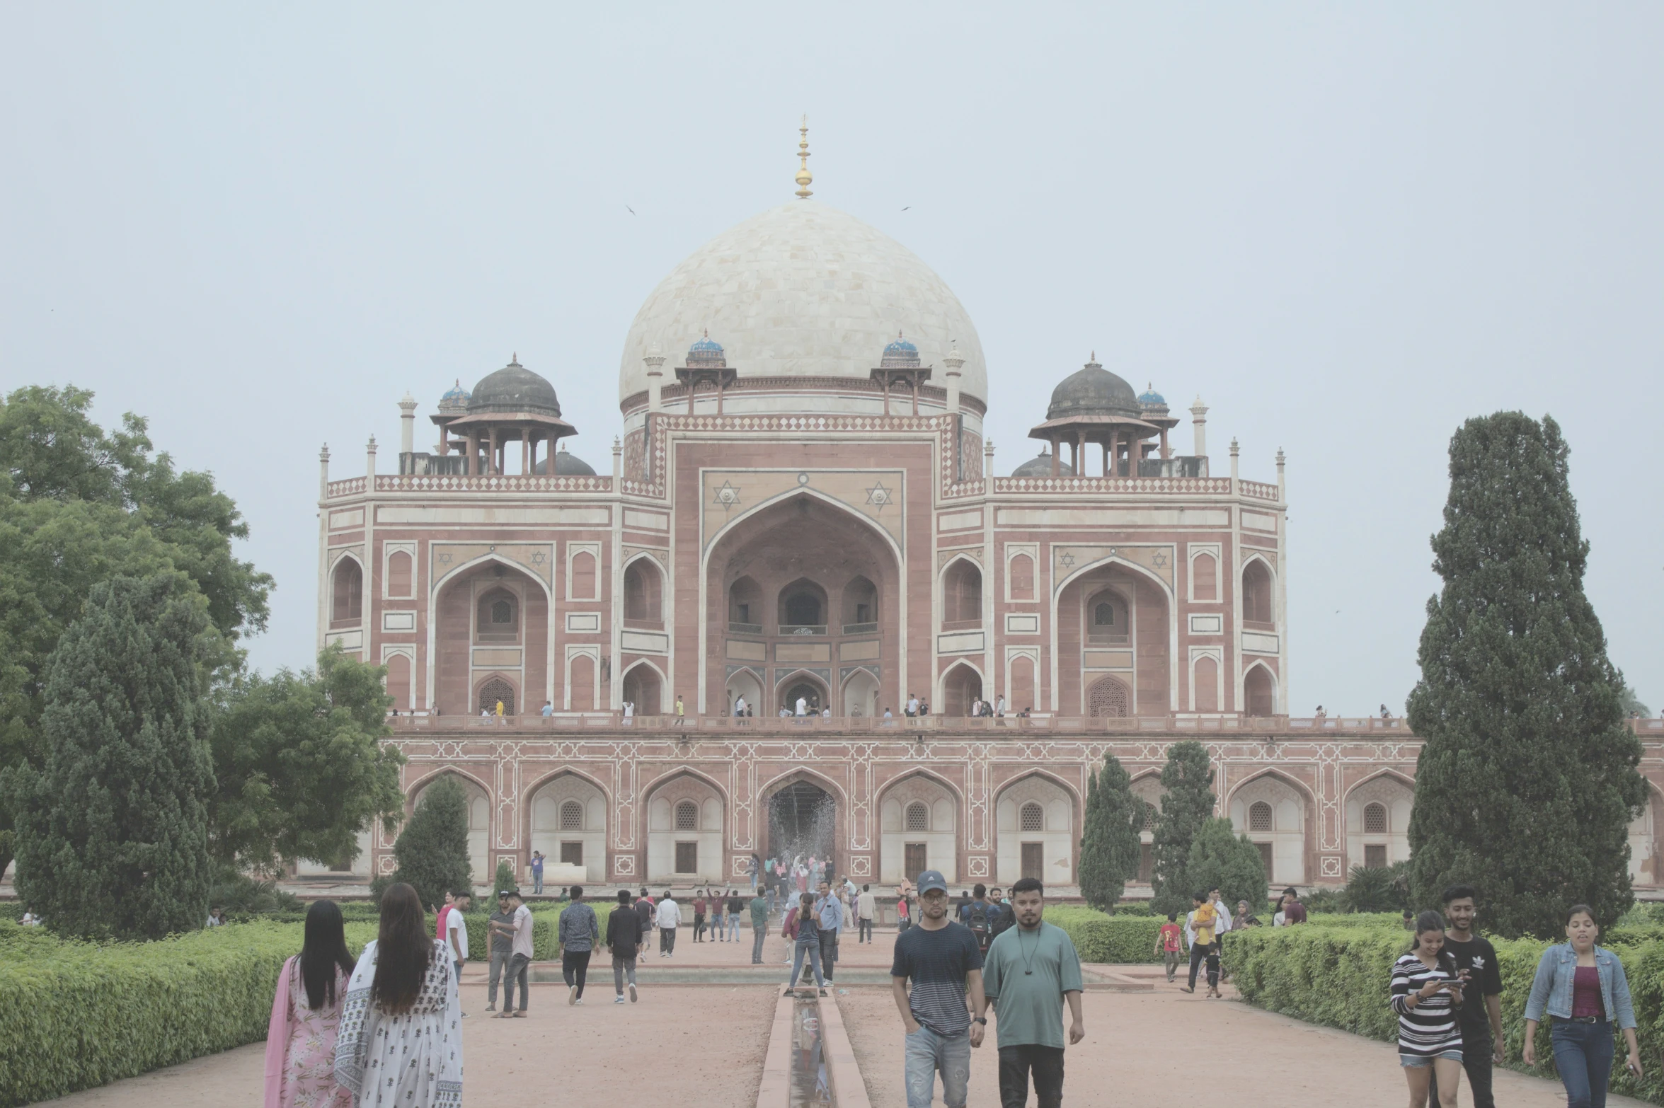
[[[45,765],[47,659],[100,581],[185,572],[220,631],[216,667],[235,669],[238,639],[266,626],[271,577],[233,556],[248,526],[231,499],[153,454],[138,416],[102,429],[92,399],[32,386],[0,401],[0,769]],[[0,870],[10,827],[0,807]]]

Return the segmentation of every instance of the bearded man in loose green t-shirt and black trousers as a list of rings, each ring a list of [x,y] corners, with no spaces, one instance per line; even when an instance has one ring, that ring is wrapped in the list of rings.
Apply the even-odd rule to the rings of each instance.
[[[988,945],[982,992],[993,1003],[1000,1043],[1000,1103],[1028,1103],[1033,1071],[1040,1108],[1063,1103],[1063,1002],[1068,1002],[1068,1045],[1087,1036],[1080,1018],[1080,955],[1060,927],[1040,920],[1045,888],[1035,877],[1012,885],[1017,927]],[[977,1005],[982,1016],[985,1005]]]

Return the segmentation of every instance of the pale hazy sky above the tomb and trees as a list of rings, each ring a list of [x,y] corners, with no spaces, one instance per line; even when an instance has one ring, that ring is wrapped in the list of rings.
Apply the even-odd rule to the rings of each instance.
[[[1449,436],[1499,409],[1564,428],[1659,709],[1661,55],[1657,3],[12,3],[0,389],[211,471],[276,577],[250,660],[306,665],[319,446],[388,472],[399,396],[428,428],[518,353],[604,472],[629,321],[790,200],[807,113],[815,198],[975,321],[997,472],[1090,351],[1201,396],[1221,471],[1286,451],[1293,714],[1403,712]]]

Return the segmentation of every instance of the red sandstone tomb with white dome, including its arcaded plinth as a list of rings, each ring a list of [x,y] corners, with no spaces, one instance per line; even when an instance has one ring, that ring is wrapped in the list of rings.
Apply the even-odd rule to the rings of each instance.
[[[1248,479],[1200,399],[1175,434],[1092,358],[997,476],[988,403],[1030,391],[799,153],[795,200],[647,294],[622,426],[586,429],[611,454],[567,449],[559,381],[518,358],[443,391],[424,449],[406,394],[384,472],[374,439],[356,476],[323,454],[319,646],[386,665],[406,795],[463,784],[474,878],[541,850],[551,880],[686,887],[819,852],[857,882],[1072,887],[1087,775],[1115,754],[1156,800],[1186,739],[1273,885],[1408,857],[1406,724],[1290,717],[1281,453]],[[363,845],[343,868],[391,872],[391,835]]]

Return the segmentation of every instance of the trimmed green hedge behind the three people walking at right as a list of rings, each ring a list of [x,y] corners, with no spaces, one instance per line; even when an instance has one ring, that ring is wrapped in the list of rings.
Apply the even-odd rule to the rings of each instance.
[[[1050,915],[1050,913],[1048,913]],[[1243,1000],[1268,1012],[1336,1026],[1381,1041],[1398,1041],[1398,1016],[1388,1003],[1393,962],[1409,937],[1391,927],[1335,925],[1336,917],[1300,927],[1256,927],[1225,937],[1225,960]],[[1346,917],[1338,917],[1346,918]],[[1612,928],[1611,948],[1624,960],[1636,1007],[1636,1033],[1646,1078],[1624,1068],[1622,1040],[1614,1058],[1612,1091],[1664,1105],[1664,942],[1651,928]],[[1503,975],[1503,1035],[1513,1070],[1554,1076],[1549,1026],[1538,1030],[1538,1066],[1519,1061],[1526,997],[1538,958],[1549,945],[1534,938],[1493,940]]]

